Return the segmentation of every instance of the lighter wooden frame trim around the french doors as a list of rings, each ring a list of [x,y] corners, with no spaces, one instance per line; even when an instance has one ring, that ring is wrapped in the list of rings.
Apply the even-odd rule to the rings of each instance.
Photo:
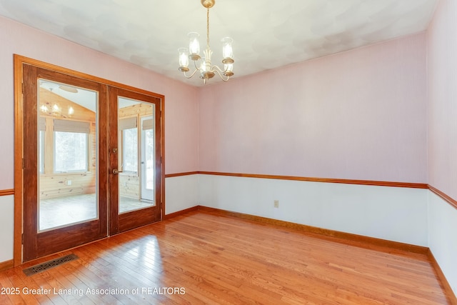
[[[19,266],[22,264],[22,240],[23,240],[23,156],[24,156],[24,131],[23,131],[23,101],[22,101],[22,80],[24,78],[22,66],[24,64],[29,64],[31,66],[36,66],[39,68],[49,69],[63,74],[68,74],[70,76],[79,77],[81,79],[87,79],[90,81],[96,81],[101,84],[106,84],[108,86],[115,86],[121,89],[126,89],[129,91],[139,92],[141,94],[146,94],[149,96],[154,96],[161,99],[160,108],[161,108],[161,199],[158,204],[160,204],[159,209],[161,209],[161,219],[164,219],[165,212],[165,96],[161,94],[156,94],[151,91],[146,91],[144,89],[138,89],[133,86],[128,86],[125,84],[117,83],[116,81],[109,81],[107,79],[102,79],[97,76],[92,76],[90,74],[85,74],[79,71],[74,71],[71,69],[66,69],[61,66],[56,66],[54,64],[48,64],[44,61],[38,61],[36,59],[30,59],[25,56],[14,54],[14,252],[13,252],[13,261],[14,266]]]

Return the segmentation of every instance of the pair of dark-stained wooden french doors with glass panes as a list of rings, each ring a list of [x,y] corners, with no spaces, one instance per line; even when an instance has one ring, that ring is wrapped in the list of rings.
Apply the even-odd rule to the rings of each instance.
[[[161,219],[160,107],[23,65],[23,261]]]

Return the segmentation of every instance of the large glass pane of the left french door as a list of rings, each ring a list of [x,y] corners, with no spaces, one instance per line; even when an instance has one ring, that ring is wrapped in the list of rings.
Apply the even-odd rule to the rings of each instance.
[[[96,91],[39,79],[38,231],[99,218]]]

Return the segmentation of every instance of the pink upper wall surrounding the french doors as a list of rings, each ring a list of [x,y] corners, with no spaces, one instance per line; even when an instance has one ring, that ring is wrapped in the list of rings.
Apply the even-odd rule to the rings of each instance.
[[[0,190],[14,188],[13,54],[163,94],[166,173],[197,170],[196,88],[3,17],[0,41]]]

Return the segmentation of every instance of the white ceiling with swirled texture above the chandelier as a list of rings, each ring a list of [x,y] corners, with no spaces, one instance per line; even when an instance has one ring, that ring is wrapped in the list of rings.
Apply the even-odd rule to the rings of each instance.
[[[438,0],[217,0],[210,10],[213,64],[233,38],[233,77],[424,31]],[[205,46],[200,0],[0,0],[0,15],[194,86],[178,71],[187,34]],[[222,64],[220,64],[222,66]],[[209,84],[220,81],[219,77]]]

